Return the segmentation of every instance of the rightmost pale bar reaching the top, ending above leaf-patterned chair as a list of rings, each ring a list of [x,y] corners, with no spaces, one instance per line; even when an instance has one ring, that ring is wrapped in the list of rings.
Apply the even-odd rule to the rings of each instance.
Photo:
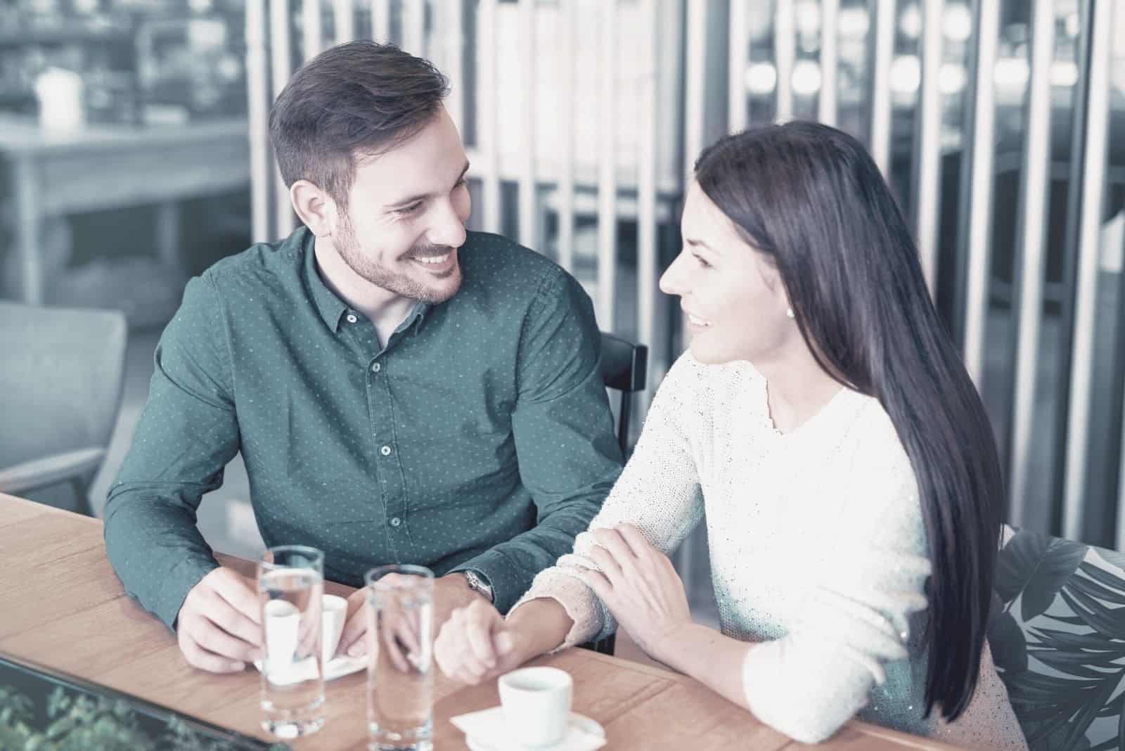
[[[1074,341],[1070,368],[1066,420],[1066,463],[1063,492],[1063,535],[1083,536],[1087,426],[1094,372],[1094,328],[1098,297],[1098,252],[1105,198],[1106,147],[1109,135],[1109,64],[1113,4],[1094,0],[1086,107],[1086,153],[1082,160],[1082,208],[1079,229],[1078,278],[1074,289]],[[1083,61],[1084,63],[1084,61]],[[1076,184],[1077,183],[1072,183]],[[1120,324],[1118,324],[1120,325]]]

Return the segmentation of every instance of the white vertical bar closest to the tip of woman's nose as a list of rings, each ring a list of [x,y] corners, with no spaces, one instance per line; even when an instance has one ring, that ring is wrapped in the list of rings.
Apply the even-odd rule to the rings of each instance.
[[[659,152],[656,139],[658,121],[656,107],[657,60],[659,60],[659,0],[641,0],[640,18],[647,25],[645,38],[645,78],[640,97],[640,139],[637,154],[637,332],[638,338],[649,351],[655,350],[657,302],[656,251],[656,165]],[[736,6],[742,4],[736,0]],[[745,47],[742,47],[745,48]],[[734,60],[734,54],[731,54]],[[741,80],[741,79],[739,79]]]

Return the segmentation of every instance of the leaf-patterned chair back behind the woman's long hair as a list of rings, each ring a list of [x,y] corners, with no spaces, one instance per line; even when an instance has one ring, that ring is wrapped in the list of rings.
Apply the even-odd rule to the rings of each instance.
[[[1125,751],[1125,555],[1005,526],[988,636],[1032,751]]]

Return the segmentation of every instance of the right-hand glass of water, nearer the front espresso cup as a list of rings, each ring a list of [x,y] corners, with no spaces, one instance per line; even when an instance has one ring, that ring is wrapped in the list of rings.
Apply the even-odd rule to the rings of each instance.
[[[433,571],[367,572],[367,721],[371,751],[431,751]]]

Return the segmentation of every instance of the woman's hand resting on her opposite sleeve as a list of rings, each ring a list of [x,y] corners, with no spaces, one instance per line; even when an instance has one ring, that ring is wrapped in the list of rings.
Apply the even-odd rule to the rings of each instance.
[[[597,544],[588,557],[602,572],[580,569],[578,574],[649,657],[670,664],[677,632],[692,625],[684,583],[672,561],[631,524],[592,534]]]

